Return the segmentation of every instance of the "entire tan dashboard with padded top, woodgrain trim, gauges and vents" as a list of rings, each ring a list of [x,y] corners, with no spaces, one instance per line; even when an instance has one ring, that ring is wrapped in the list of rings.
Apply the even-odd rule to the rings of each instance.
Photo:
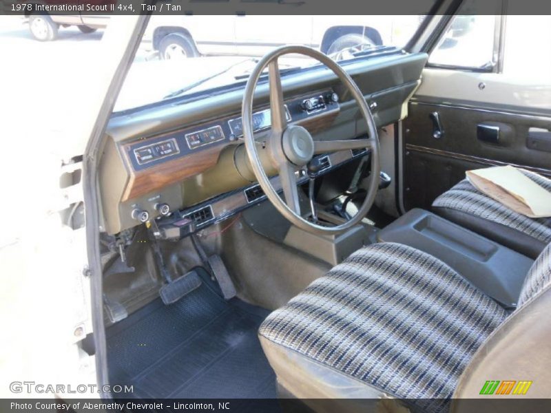
[[[368,62],[352,74],[368,102],[377,107],[377,125],[404,117],[404,103],[419,85],[425,62],[425,54],[387,56],[386,64]],[[393,76],[388,76],[389,69]],[[262,87],[257,88],[252,116],[260,152],[271,125],[267,87]],[[305,127],[315,140],[365,134],[357,105],[326,70],[284,82],[284,92],[291,96],[284,100],[288,123]],[[265,197],[242,140],[241,98],[242,90],[236,90],[114,116],[99,165],[105,231],[118,233],[165,215],[193,218],[200,228],[262,202]],[[366,151],[326,154],[321,156],[326,166],[320,173],[365,155]],[[265,168],[278,187],[275,171]]]

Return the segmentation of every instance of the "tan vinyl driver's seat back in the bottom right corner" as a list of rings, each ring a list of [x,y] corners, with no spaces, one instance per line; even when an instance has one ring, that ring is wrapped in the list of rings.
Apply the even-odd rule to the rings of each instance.
[[[526,275],[519,307],[497,328],[472,357],[459,378],[454,398],[488,398],[482,389],[486,381],[514,381],[495,388],[498,396],[514,396],[521,382],[526,398],[548,398],[551,383],[551,244]],[[452,412],[472,411],[468,400],[456,400]]]

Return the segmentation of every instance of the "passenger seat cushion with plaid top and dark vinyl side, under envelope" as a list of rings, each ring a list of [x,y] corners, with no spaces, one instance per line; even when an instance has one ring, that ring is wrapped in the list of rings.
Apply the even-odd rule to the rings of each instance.
[[[525,169],[520,171],[551,192],[551,180]],[[530,258],[535,259],[551,242],[551,218],[528,218],[514,212],[466,179],[436,198],[433,211]]]

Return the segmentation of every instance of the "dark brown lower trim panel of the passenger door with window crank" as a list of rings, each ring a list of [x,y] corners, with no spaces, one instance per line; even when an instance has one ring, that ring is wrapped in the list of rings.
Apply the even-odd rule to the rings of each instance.
[[[443,129],[435,138],[437,113]],[[433,200],[465,178],[465,171],[516,165],[551,177],[551,152],[533,145],[534,128],[551,129],[551,118],[458,105],[414,101],[404,121],[404,208],[430,209]],[[481,140],[479,125],[499,127],[497,143]],[[532,131],[530,131],[532,129]],[[534,148],[535,147],[535,148]]]

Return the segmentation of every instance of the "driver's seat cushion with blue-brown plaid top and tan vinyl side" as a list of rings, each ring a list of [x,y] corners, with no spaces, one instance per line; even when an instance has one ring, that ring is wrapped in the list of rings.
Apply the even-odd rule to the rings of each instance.
[[[443,411],[472,354],[506,317],[435,257],[380,243],[356,251],[271,313],[259,334],[280,383],[295,383],[287,388],[295,396],[350,397],[354,382],[356,390],[361,383]],[[299,385],[295,372],[315,371],[307,363],[324,374]],[[344,379],[348,384],[335,385]]]

